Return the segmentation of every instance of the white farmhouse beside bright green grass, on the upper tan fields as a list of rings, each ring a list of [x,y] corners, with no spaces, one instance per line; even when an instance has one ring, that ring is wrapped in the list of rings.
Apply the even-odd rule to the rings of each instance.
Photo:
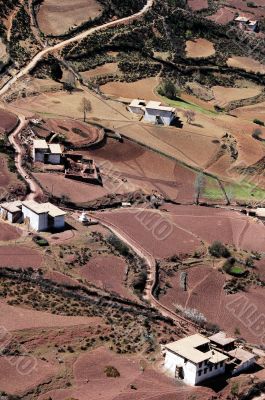
[[[175,118],[176,109],[162,106],[159,101],[146,103],[145,100],[134,99],[129,105],[129,111],[133,114],[143,115],[146,122],[169,126]]]

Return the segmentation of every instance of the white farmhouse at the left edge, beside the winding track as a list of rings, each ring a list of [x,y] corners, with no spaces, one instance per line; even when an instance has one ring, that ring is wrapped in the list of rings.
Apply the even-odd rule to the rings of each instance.
[[[0,215],[11,223],[28,220],[35,231],[63,229],[66,213],[51,203],[37,203],[34,200],[14,201],[0,206]]]

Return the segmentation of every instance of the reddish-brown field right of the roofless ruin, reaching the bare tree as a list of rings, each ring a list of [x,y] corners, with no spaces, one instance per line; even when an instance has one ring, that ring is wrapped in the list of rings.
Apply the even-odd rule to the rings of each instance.
[[[125,178],[128,189],[135,186],[147,192],[155,190],[178,201],[194,199],[196,174],[192,170],[129,140],[119,143],[107,139],[103,147],[81,154],[95,159],[107,174]]]

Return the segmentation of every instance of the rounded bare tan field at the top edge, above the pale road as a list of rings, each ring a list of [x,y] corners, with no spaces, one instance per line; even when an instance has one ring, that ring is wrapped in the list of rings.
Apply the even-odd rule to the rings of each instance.
[[[58,4],[56,0],[45,0],[37,18],[45,34],[60,35],[73,26],[96,18],[101,11],[102,7],[96,0],[75,0],[74,4],[71,0],[64,0],[63,4]]]

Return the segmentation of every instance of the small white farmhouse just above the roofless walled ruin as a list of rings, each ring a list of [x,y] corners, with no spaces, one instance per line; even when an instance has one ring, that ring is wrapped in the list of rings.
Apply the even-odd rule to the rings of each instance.
[[[33,140],[33,161],[45,164],[60,164],[62,148],[57,143],[48,144],[44,139]]]

